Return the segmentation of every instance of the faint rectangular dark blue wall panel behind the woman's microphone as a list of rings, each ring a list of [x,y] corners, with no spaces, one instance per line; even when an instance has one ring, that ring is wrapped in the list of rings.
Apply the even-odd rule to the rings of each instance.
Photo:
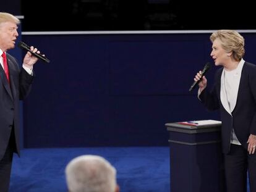
[[[194,49],[197,48],[197,49]],[[203,67],[203,41],[130,41],[110,46],[111,94],[181,94]]]

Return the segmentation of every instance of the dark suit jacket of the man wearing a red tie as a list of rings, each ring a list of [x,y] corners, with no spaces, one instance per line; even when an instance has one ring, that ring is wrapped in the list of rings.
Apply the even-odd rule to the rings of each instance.
[[[4,156],[12,127],[14,127],[17,153],[20,154],[19,140],[19,100],[27,96],[33,76],[19,65],[14,57],[7,55],[10,85],[4,69],[0,66],[0,160]]]

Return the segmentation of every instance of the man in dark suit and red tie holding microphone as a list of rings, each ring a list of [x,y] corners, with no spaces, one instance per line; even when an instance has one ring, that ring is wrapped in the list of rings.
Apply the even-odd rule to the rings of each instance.
[[[7,50],[14,48],[19,19],[0,12],[0,191],[9,190],[12,156],[19,154],[19,100],[30,91],[33,64],[38,60],[27,52],[22,69]],[[31,51],[40,53],[36,48]]]

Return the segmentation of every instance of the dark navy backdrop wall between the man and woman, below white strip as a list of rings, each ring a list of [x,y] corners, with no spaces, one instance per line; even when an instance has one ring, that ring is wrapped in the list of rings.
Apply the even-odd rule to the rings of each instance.
[[[256,35],[242,34],[256,63]],[[23,35],[38,62],[24,102],[26,148],[164,146],[164,123],[217,119],[189,87],[211,61],[210,34]],[[213,62],[212,62],[213,63]],[[216,67],[207,74],[211,84]]]

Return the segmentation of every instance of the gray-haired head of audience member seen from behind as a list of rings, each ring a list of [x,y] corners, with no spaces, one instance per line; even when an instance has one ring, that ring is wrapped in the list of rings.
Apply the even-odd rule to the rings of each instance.
[[[116,169],[100,156],[84,155],[72,159],[66,167],[70,192],[114,192]]]

